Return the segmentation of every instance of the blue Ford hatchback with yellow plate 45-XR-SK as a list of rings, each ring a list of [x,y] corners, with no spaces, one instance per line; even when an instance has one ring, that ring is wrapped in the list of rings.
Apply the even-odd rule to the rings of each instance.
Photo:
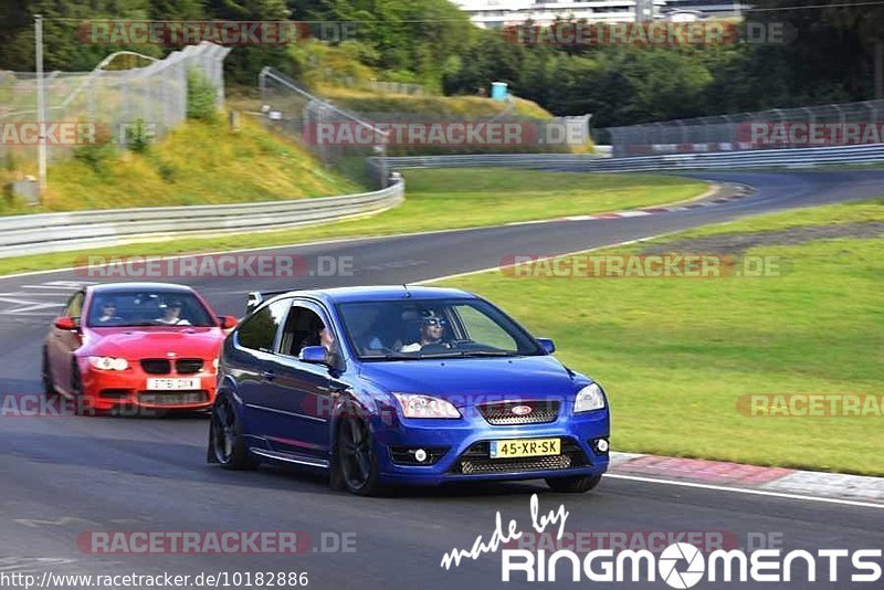
[[[222,348],[208,460],[325,468],[360,495],[533,478],[587,492],[608,468],[608,402],[554,351],[459,289],[253,293]]]

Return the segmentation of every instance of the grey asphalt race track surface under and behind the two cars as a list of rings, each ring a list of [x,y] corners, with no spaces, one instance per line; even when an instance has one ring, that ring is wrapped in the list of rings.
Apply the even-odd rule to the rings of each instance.
[[[493,267],[514,253],[555,254],[732,220],[746,214],[869,198],[884,193],[884,172],[704,173],[756,189],[741,200],[640,218],[555,222],[427,235],[316,244],[278,251],[307,257],[352,256],[348,277],[190,281],[220,314],[241,315],[244,292],[347,284],[398,284]],[[588,178],[588,182],[591,179]],[[71,271],[0,278],[0,393],[40,391],[40,343],[70,288]],[[594,285],[592,288],[603,288]],[[530,286],[526,285],[526,296]],[[28,305],[32,302],[32,305]],[[42,303],[41,303],[42,302]],[[614,417],[614,428],[617,417]],[[884,547],[884,512],[607,478],[586,495],[548,492],[541,482],[404,489],[392,497],[332,493],[318,474],[288,467],[252,473],[206,464],[208,421],[166,419],[0,419],[0,573],[214,573],[306,571],[308,588],[493,588],[498,555],[440,567],[443,554],[469,549],[504,523],[530,528],[529,499],[541,513],[564,504],[566,530],[724,531],[746,545],[749,534],[781,536],[786,549]],[[685,435],[690,435],[686,425]],[[808,450],[812,452],[812,450]],[[81,551],[87,530],[299,530],[304,555],[110,555]],[[320,533],[355,534],[355,552],[323,552]],[[334,538],[328,535],[326,539]],[[334,545],[329,542],[329,546]],[[827,580],[827,567],[820,568]],[[518,580],[518,578],[516,578]],[[567,579],[567,577],[566,577]],[[798,578],[801,580],[801,578]],[[546,587],[628,587],[628,582],[545,582]],[[848,588],[841,581],[787,588]],[[511,582],[511,587],[528,587]],[[657,580],[649,587],[667,588]],[[697,588],[735,587],[701,582]],[[767,583],[768,588],[781,584]],[[70,587],[70,586],[69,586]]]

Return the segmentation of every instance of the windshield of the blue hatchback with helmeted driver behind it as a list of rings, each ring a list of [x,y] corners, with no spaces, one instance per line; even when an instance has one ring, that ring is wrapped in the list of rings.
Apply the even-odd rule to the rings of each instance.
[[[524,328],[482,299],[348,303],[338,312],[362,360],[544,354]]]

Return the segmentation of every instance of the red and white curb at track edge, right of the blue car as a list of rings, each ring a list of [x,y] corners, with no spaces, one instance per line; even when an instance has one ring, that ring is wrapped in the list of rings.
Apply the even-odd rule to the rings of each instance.
[[[623,478],[884,508],[884,477],[617,452],[611,453],[610,473]]]

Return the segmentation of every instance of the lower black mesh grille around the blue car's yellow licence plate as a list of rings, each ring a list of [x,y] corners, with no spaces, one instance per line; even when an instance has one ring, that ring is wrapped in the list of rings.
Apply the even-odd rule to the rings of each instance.
[[[480,475],[483,473],[523,473],[529,471],[557,471],[591,465],[586,453],[573,439],[561,440],[561,454],[491,459],[488,441],[474,443],[454,462],[451,473]]]

